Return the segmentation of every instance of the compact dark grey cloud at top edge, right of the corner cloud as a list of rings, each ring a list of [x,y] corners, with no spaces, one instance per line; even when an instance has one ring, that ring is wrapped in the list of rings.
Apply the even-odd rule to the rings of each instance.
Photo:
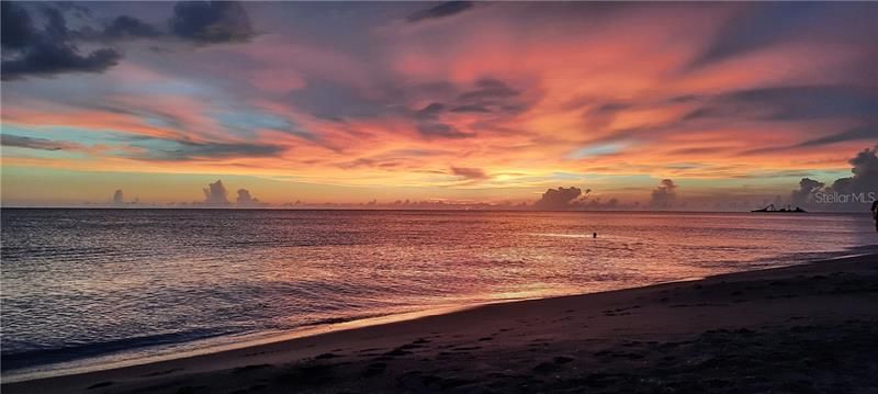
[[[246,42],[256,36],[250,18],[235,1],[181,1],[173,7],[171,33],[204,44]]]

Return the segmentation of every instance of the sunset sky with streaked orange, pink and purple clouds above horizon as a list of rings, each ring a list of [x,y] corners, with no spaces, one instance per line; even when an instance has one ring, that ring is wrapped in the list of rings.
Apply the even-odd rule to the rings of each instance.
[[[878,3],[2,7],[7,205],[728,210],[878,175]]]

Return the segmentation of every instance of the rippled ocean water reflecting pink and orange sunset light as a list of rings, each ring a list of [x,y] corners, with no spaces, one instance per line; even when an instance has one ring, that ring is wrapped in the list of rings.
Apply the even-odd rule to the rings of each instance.
[[[373,316],[790,264],[876,244],[868,213],[4,209],[2,373],[58,374]]]

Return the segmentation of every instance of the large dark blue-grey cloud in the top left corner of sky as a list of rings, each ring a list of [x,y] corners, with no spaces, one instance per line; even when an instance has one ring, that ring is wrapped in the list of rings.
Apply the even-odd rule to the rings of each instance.
[[[37,30],[26,9],[10,1],[1,5],[4,81],[66,72],[101,72],[122,58],[112,48],[82,54],[75,43],[75,32],[67,29],[67,21],[57,9],[41,8],[47,22]]]

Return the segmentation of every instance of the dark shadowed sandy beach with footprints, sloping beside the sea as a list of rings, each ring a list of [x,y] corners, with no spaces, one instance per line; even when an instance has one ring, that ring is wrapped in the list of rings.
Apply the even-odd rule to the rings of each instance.
[[[878,391],[878,256],[444,315],[3,393]]]

